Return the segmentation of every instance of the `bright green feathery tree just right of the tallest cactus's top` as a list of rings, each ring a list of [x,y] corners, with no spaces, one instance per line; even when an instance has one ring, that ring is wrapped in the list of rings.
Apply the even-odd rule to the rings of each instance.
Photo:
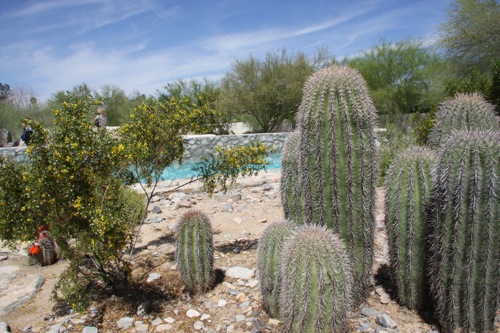
[[[343,63],[363,75],[381,114],[427,112],[442,98],[443,61],[420,41],[382,41]]]

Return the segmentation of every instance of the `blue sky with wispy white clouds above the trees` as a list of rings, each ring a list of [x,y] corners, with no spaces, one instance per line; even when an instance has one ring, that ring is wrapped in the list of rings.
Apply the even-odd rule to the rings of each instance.
[[[286,48],[337,59],[432,43],[452,0],[0,0],[0,82],[46,100],[87,83],[155,95]]]

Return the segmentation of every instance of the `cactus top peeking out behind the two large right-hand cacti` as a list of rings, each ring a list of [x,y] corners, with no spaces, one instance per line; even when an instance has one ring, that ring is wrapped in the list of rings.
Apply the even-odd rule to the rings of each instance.
[[[436,114],[436,124],[429,135],[429,145],[439,148],[452,131],[500,129],[495,116],[495,107],[481,95],[458,94],[445,100]]]

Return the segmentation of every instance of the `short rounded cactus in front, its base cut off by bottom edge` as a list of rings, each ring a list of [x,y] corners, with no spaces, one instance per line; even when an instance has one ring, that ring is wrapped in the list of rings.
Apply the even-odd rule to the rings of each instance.
[[[281,315],[286,332],[345,332],[352,301],[352,263],[331,230],[305,225],[285,241]]]

